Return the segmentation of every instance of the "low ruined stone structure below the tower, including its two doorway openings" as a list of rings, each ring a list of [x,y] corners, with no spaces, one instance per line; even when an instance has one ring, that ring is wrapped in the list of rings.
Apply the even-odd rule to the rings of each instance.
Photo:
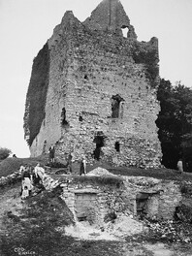
[[[110,173],[103,176],[100,170],[99,176],[52,178],[45,175],[43,184],[47,190],[62,187],[61,198],[76,221],[87,220],[102,226],[120,215],[141,214],[156,220],[174,219],[176,208],[182,203],[178,182],[142,176],[119,177]]]

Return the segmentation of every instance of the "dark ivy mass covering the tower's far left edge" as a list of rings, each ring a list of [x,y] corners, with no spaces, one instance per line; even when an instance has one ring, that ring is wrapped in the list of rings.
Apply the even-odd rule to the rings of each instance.
[[[31,145],[38,135],[45,118],[45,107],[48,92],[49,51],[48,43],[42,48],[33,61],[32,75],[28,87],[24,129],[29,131],[27,143]]]

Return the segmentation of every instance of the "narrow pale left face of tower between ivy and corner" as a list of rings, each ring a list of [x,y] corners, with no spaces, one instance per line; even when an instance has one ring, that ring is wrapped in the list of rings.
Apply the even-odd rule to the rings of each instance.
[[[67,12],[48,40],[49,80],[46,116],[39,134],[30,147],[31,156],[48,152],[48,147],[62,138],[61,113],[63,108],[68,109],[70,97],[70,66],[73,61],[71,41],[73,41],[73,30],[78,31],[76,25],[79,24],[80,21],[72,12]]]

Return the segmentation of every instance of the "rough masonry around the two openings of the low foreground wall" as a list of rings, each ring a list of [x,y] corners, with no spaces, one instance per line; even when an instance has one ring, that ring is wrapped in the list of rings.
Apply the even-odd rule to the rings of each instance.
[[[180,185],[176,181],[161,180],[152,177],[122,176],[121,179],[108,177],[85,176],[76,178],[66,176],[63,179],[44,176],[43,184],[46,189],[60,185],[63,188],[61,198],[76,216],[76,194],[94,194],[94,218],[102,224],[109,213],[137,216],[137,196],[148,194],[144,213],[148,218],[174,219],[176,207],[180,206],[183,198]],[[108,179],[109,178],[109,179]],[[105,182],[103,181],[105,180]],[[82,204],[83,206],[83,204]]]

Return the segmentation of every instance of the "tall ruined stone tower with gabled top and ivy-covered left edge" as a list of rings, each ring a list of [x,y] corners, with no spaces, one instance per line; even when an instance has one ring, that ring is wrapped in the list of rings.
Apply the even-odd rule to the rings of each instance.
[[[33,62],[24,114],[31,156],[55,144],[74,160],[158,167],[158,62],[157,39],[138,42],[118,0],[103,0],[84,22],[66,12]]]

